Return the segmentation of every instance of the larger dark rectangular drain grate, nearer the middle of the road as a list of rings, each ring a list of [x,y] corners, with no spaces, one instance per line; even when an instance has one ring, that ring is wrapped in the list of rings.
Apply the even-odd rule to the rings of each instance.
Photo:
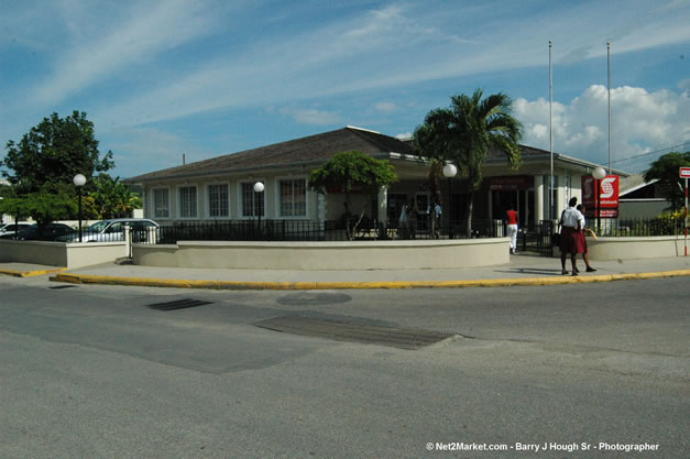
[[[330,338],[338,341],[381,345],[401,349],[419,349],[453,336],[440,331],[348,324],[304,316],[275,317],[255,323],[254,325],[269,330],[293,335]]]

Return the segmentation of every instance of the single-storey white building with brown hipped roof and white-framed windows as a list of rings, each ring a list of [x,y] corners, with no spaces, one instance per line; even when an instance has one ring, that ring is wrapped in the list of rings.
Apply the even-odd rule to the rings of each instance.
[[[385,159],[395,167],[399,182],[377,196],[354,194],[350,211],[372,220],[394,221],[403,203],[417,204],[425,214],[435,198],[429,190],[429,166],[418,157],[412,142],[366,129],[346,127],[330,132],[227,154],[196,163],[151,172],[124,181],[142,189],[144,217],[161,225],[175,222],[249,220],[337,220],[346,210],[344,196],[326,196],[308,189],[310,171],[332,155],[357,150]],[[490,152],[483,174],[484,185],[474,198],[474,219],[503,219],[513,203],[523,228],[535,228],[540,220],[557,218],[571,196],[581,198],[581,176],[591,175],[596,164],[554,153],[554,209],[548,209],[551,155],[521,146],[522,164],[513,172],[499,152]],[[462,220],[467,215],[468,188],[461,175],[441,177],[440,199],[445,215]],[[627,174],[615,172],[622,176]],[[264,190],[254,192],[262,182]]]

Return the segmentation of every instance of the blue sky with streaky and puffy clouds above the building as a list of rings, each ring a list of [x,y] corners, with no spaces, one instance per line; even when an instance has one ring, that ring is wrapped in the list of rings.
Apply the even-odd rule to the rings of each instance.
[[[0,142],[84,111],[121,178],[505,92],[522,143],[642,172],[690,150],[690,0],[0,0]]]

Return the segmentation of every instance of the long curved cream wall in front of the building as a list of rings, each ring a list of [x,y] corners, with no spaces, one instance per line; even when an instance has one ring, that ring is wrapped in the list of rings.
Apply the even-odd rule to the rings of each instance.
[[[490,266],[510,261],[508,238],[132,244],[134,264],[247,270],[424,270]]]

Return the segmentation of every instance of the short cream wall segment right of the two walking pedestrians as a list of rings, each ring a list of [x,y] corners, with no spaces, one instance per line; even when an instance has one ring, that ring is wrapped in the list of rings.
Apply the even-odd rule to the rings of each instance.
[[[590,260],[639,260],[684,254],[684,236],[587,238]]]

